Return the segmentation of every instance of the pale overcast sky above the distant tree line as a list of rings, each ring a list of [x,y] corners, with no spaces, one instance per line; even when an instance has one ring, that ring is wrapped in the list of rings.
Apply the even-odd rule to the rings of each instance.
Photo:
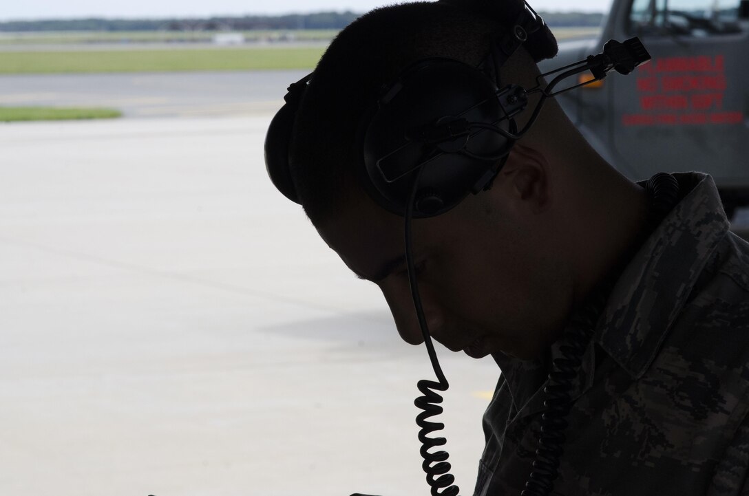
[[[501,0],[500,0],[501,1]],[[7,0],[0,20],[76,17],[197,17],[307,13],[320,10],[366,12],[395,0]],[[603,12],[610,0],[531,0],[536,10]]]

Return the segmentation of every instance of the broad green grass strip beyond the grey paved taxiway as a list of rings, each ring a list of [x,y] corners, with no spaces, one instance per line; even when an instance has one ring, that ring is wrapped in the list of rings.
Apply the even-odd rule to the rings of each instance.
[[[305,48],[0,52],[0,74],[311,69],[323,46]]]

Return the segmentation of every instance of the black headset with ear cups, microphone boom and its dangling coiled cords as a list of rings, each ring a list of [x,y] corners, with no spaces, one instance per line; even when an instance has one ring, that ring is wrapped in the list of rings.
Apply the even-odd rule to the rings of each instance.
[[[437,382],[422,380],[422,393],[414,402],[422,412],[416,417],[420,427],[422,468],[432,496],[456,496],[458,486],[449,474],[449,455],[444,450],[430,451],[446,444],[445,438],[430,438],[443,424],[428,420],[440,414],[442,397],[448,382],[437,361],[431,341],[413,266],[411,220],[440,215],[452,209],[470,193],[491,188],[512,146],[524,135],[545,100],[564,91],[606,77],[610,70],[631,73],[650,60],[637,38],[619,43],[609,40],[603,52],[582,61],[544,73],[533,88],[505,85],[500,88],[500,68],[521,45],[539,62],[557,54],[557,41],[548,26],[524,0],[439,0],[468,8],[499,21],[503,29],[481,63],[472,67],[450,58],[425,58],[406,67],[378,94],[363,114],[355,149],[359,156],[356,175],[363,189],[389,212],[404,217],[405,254],[414,309],[424,337]],[[508,22],[509,21],[509,22]],[[554,88],[563,80],[589,70],[592,78],[560,91]],[[554,76],[544,84],[545,76]],[[288,87],[285,104],[270,123],[265,141],[265,164],[270,180],[286,198],[300,203],[289,166],[289,146],[294,118],[307,85],[314,73]],[[529,95],[540,94],[527,123],[518,129],[515,117],[528,111]],[[673,177],[671,177],[673,180]],[[610,281],[605,281],[610,285]],[[601,294],[608,294],[604,288]],[[557,477],[569,411],[569,390],[574,370],[582,356],[598,313],[605,300],[600,298],[583,308],[577,330],[562,346],[562,358],[549,375],[549,408],[543,415],[539,450],[523,496],[548,495]],[[545,403],[546,404],[546,403]],[[352,495],[357,496],[357,495]],[[360,495],[365,496],[365,495]]]

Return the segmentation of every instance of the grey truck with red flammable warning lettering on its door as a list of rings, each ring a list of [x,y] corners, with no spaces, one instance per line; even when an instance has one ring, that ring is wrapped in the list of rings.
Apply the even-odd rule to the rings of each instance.
[[[622,174],[706,172],[731,218],[749,205],[749,0],[613,0],[600,34],[560,41],[557,57],[539,67],[634,36],[650,52],[648,64],[556,98]]]

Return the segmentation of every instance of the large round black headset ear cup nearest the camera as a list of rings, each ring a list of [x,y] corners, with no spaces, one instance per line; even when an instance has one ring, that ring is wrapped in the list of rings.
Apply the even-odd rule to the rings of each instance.
[[[484,73],[452,59],[425,59],[407,69],[360,125],[365,190],[404,215],[416,187],[417,218],[447,212],[476,192],[512,146],[481,127],[509,125],[496,92]]]

